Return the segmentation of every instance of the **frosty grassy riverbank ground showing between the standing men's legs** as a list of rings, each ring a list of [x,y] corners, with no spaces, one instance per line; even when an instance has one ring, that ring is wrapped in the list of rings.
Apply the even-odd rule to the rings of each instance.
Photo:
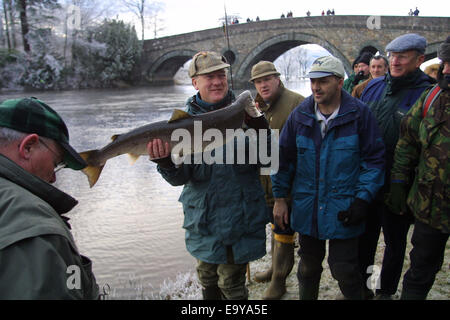
[[[405,256],[405,263],[403,266],[402,276],[399,283],[399,288],[394,296],[397,300],[400,298],[403,275],[408,270],[409,252],[412,249],[411,246],[412,228],[408,234],[408,246],[407,254]],[[381,234],[378,249],[375,257],[375,265],[381,268],[381,262],[383,258],[385,245],[383,235]],[[298,247],[296,248],[296,251]],[[267,241],[267,252],[270,252],[270,240]],[[282,300],[298,300],[298,280],[297,280],[297,266],[298,255],[295,254],[295,265],[286,280],[287,292],[283,296]],[[327,265],[327,257],[324,259],[324,271],[322,273],[322,279],[320,282],[319,300],[335,300],[340,296],[340,290],[336,280],[333,279],[330,273],[330,269]],[[269,268],[271,264],[271,256],[267,254],[263,258],[254,261],[250,264],[251,281],[247,283],[249,291],[249,300],[261,300],[264,291],[268,287],[268,283],[257,283],[253,280],[256,272],[264,271]],[[201,299],[201,288],[197,281],[197,277],[194,273],[179,274],[175,280],[166,280],[161,286],[159,294],[149,297],[149,299],[162,299],[162,300],[199,300]],[[441,271],[436,276],[435,283],[430,293],[428,294],[428,300],[449,300],[450,299],[450,244],[447,243],[445,250],[444,263]]]

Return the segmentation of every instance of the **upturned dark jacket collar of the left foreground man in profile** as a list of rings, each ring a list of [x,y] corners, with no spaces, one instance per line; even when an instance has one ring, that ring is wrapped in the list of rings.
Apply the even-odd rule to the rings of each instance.
[[[68,194],[25,171],[15,162],[1,154],[0,177],[19,185],[35,196],[41,198],[51,205],[60,215],[69,212],[78,204],[78,201]]]

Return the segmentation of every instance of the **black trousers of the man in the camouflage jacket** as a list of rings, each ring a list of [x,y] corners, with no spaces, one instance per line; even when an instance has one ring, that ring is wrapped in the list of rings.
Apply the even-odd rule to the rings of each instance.
[[[444,262],[448,233],[416,221],[409,257],[411,266],[403,277],[401,299],[425,300],[433,286],[436,274]]]

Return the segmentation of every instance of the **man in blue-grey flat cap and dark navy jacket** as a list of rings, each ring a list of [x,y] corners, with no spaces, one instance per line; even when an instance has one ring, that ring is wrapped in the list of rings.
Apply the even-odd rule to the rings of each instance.
[[[398,141],[400,122],[423,91],[435,81],[420,70],[425,59],[427,41],[424,37],[409,33],[392,40],[387,46],[389,72],[372,80],[364,89],[361,100],[369,105],[382,131],[386,145],[386,177],[383,188],[368,208],[366,232],[360,239],[360,271],[364,279],[370,276],[374,264],[380,228],[383,227],[384,250],[380,288],[377,299],[391,299],[397,292],[406,250],[406,236],[413,217],[396,215],[384,203],[389,192],[394,150]],[[373,271],[373,269],[372,269]],[[373,292],[366,289],[368,298]]]

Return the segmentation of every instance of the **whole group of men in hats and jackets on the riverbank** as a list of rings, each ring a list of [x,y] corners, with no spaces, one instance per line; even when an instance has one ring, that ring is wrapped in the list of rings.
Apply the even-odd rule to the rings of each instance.
[[[450,234],[450,36],[437,52],[436,79],[420,69],[426,47],[418,34],[401,35],[386,46],[387,57],[361,52],[346,80],[340,59],[319,57],[306,76],[308,97],[287,89],[264,60],[255,61],[248,78],[256,97],[236,97],[225,57],[193,56],[189,76],[196,93],[166,125],[229,107],[241,143],[236,136],[210,152],[231,163],[198,161],[201,153],[175,161],[162,129],[161,136],[132,144],[142,144],[155,164],[149,170],[183,186],[185,243],[197,260],[205,300],[248,299],[248,265],[266,255],[269,222],[271,267],[255,274],[256,281],[270,282],[264,299],[286,293],[296,238],[301,300],[318,298],[327,245],[342,298],[393,299],[411,226],[400,298],[427,298]],[[217,122],[216,131],[232,121]],[[65,216],[77,201],[53,185],[61,168],[98,178],[105,163],[94,158],[70,145],[64,120],[44,101],[0,102],[0,299],[102,297],[92,261],[79,252]],[[268,166],[269,175],[261,175]],[[384,257],[372,288],[367,283],[381,230]]]

